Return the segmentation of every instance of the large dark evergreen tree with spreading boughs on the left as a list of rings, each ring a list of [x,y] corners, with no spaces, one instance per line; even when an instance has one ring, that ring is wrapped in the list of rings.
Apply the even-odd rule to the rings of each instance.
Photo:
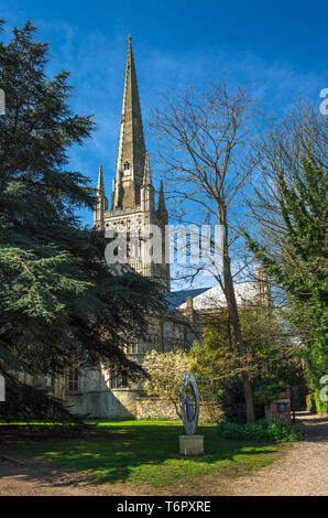
[[[68,73],[47,79],[47,44],[34,33],[28,22],[0,43],[0,373],[56,375],[78,360],[136,375],[122,347],[145,333],[158,288],[111,274],[103,235],[75,216],[95,191],[67,170],[67,151],[94,123],[69,108]]]

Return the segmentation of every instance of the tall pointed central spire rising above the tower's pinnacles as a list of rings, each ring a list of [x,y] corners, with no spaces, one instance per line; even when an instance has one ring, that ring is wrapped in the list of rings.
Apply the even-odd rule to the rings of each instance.
[[[145,144],[136,74],[132,52],[132,37],[129,36],[123,105],[120,129],[120,143],[117,162],[116,207],[133,207],[140,203],[140,186],[143,181]]]

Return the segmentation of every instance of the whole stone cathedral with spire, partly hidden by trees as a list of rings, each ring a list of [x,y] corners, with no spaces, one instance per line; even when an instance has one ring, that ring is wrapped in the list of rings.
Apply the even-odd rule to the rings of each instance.
[[[122,116],[120,122],[119,150],[116,175],[110,199],[106,195],[102,166],[99,168],[97,204],[94,215],[95,227],[103,230],[123,228],[128,235],[134,229],[140,231],[146,225],[156,225],[162,230],[161,260],[153,262],[142,256],[129,259],[129,268],[160,282],[167,293],[168,311],[151,315],[147,339],[127,344],[125,354],[130,359],[142,364],[150,350],[165,353],[188,350],[194,341],[201,341],[204,319],[218,304],[226,305],[219,287],[198,288],[171,292],[170,265],[165,260],[167,242],[165,226],[168,214],[165,205],[163,184],[160,185],[157,199],[152,183],[150,161],[146,153],[141,107],[138,91],[136,73],[132,52],[132,37],[129,36],[125,67]],[[110,201],[110,204],[109,204]],[[260,282],[236,284],[239,304],[253,299],[259,293]],[[261,290],[260,290],[261,291]],[[40,384],[40,380],[39,385]],[[56,396],[64,399],[70,411],[95,418],[138,417],[138,402],[143,398],[142,387],[128,381],[124,373],[114,373],[99,366],[81,368],[79,365],[67,368],[63,379],[43,382]]]

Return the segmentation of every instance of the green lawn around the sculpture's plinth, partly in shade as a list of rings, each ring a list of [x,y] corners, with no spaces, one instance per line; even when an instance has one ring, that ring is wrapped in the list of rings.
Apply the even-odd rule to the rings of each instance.
[[[178,455],[176,421],[89,421],[96,428],[78,438],[18,444],[25,453],[51,466],[90,475],[98,483],[147,484],[170,487],[201,486],[206,475],[231,477],[273,462],[281,444],[244,445],[215,442],[216,425],[197,430],[205,435],[205,455]],[[91,482],[91,481],[90,481]]]

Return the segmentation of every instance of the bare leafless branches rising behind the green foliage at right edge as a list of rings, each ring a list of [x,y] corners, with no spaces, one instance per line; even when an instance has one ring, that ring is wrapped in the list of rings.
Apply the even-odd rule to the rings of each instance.
[[[286,259],[297,270],[295,257],[288,253],[286,244],[282,173],[287,187],[304,198],[309,197],[304,160],[317,166],[324,183],[327,144],[328,117],[320,115],[318,107],[300,99],[281,121],[273,121],[265,128],[254,147],[259,181],[254,182],[253,192],[248,196],[250,220],[267,253],[280,261],[283,248]]]

